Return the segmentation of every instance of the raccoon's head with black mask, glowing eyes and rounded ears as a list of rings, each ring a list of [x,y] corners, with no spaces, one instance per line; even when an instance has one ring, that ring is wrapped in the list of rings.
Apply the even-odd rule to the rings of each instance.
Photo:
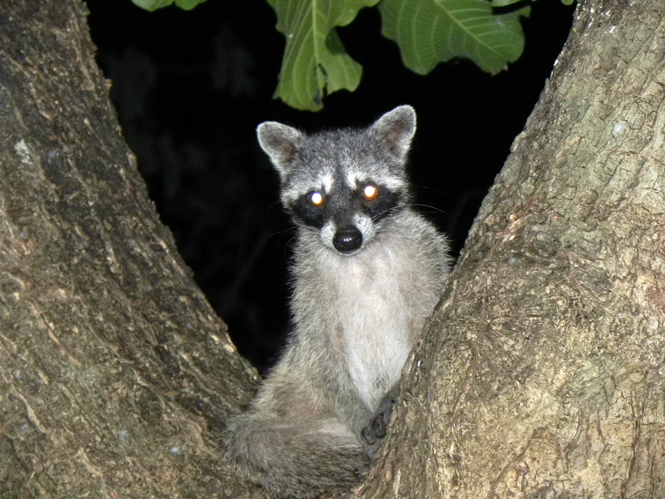
[[[415,131],[416,112],[399,106],[364,129],[308,135],[269,121],[257,135],[295,223],[318,230],[325,246],[352,254],[408,204],[404,170]]]

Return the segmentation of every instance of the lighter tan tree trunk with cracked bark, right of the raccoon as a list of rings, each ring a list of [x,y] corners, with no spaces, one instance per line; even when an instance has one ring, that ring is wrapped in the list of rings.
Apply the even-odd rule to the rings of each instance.
[[[579,5],[362,498],[665,497],[664,126],[662,0]]]

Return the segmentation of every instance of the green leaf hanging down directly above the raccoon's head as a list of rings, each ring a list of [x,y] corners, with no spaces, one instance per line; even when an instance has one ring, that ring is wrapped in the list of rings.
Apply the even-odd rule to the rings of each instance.
[[[274,97],[297,109],[319,110],[323,96],[355,90],[362,66],[344,50],[334,27],[345,26],[379,0],[268,0],[287,44]]]

